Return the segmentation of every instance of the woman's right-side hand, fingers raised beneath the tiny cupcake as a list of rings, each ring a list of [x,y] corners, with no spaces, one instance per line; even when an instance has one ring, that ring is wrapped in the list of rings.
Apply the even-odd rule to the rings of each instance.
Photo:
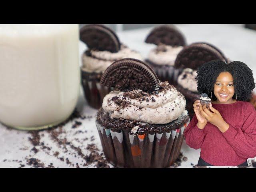
[[[206,108],[206,105],[204,105],[202,108],[199,108],[200,114],[206,118],[208,122],[218,127],[218,129],[221,132],[226,132],[229,128],[229,124],[227,124],[224,119],[222,118],[220,112],[218,110],[214,109],[212,107],[212,104],[210,103],[210,111],[208,108]]]

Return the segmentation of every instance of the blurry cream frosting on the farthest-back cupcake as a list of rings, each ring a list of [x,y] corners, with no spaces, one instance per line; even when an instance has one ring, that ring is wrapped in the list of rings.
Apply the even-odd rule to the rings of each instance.
[[[157,65],[174,66],[178,53],[183,49],[182,46],[169,46],[161,44],[150,51],[148,60]]]

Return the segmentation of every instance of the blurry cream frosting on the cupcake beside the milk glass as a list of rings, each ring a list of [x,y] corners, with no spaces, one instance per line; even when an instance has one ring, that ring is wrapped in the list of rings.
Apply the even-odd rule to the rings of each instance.
[[[108,66],[110,66],[114,61],[122,58],[135,58],[143,60],[140,53],[131,50],[124,45],[121,45],[121,50],[117,53],[90,50],[90,55],[91,56],[87,56],[84,53],[82,56],[82,70],[87,72],[104,72],[106,68],[108,68]]]

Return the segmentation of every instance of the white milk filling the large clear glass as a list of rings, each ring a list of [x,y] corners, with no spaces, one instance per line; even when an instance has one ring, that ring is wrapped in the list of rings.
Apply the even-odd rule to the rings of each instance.
[[[0,25],[0,122],[40,129],[66,120],[80,87],[78,24]]]

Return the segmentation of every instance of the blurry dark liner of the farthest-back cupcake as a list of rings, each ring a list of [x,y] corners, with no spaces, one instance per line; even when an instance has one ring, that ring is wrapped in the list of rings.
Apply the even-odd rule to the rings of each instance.
[[[146,62],[156,72],[156,75],[158,76],[160,81],[168,81],[170,84],[174,86],[177,84],[178,76],[182,72],[181,69],[177,69],[174,68],[174,66],[168,65],[156,65],[150,62],[149,60],[146,60]]]

